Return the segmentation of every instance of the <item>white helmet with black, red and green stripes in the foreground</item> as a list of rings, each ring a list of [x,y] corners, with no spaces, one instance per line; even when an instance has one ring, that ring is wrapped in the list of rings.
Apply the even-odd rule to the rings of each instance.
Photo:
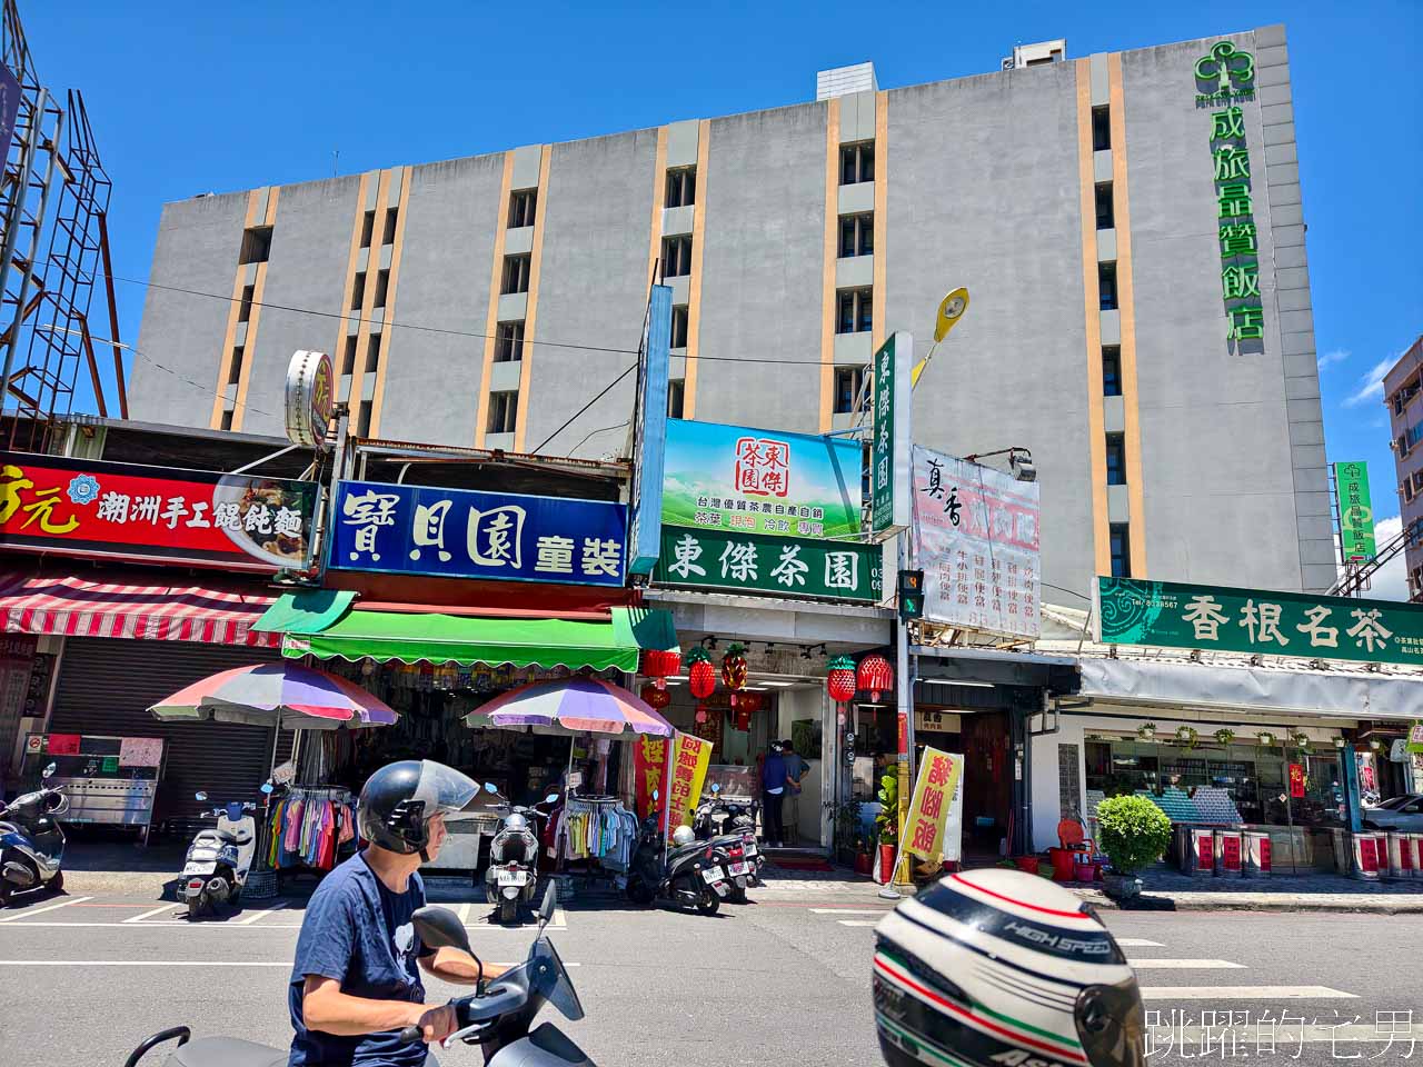
[[[1141,993],[1090,905],[1019,871],[949,875],[875,930],[891,1067],[1143,1067]]]

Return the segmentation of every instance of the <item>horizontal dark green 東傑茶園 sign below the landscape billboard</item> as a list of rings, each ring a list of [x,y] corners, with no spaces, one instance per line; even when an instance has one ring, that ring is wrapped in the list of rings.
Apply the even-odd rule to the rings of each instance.
[[[878,545],[663,526],[653,580],[699,589],[877,603]]]

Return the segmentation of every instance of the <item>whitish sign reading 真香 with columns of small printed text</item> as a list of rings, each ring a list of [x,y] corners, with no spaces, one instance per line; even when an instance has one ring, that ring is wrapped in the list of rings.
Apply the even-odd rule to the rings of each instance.
[[[914,447],[911,545],[924,617],[1036,637],[1039,491],[1002,471]]]

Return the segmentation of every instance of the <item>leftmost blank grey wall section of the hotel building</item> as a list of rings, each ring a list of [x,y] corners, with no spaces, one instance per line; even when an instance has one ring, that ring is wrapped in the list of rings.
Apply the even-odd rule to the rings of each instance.
[[[245,192],[164,205],[149,273],[152,286],[138,331],[142,356],[134,359],[128,381],[134,418],[196,427],[211,423],[232,304],[157,286],[231,296],[246,212]]]

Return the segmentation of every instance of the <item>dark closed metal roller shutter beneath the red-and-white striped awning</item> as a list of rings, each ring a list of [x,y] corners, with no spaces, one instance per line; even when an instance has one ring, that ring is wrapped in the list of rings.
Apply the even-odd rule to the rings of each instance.
[[[219,670],[269,663],[272,649],[196,642],[68,637],[54,693],[53,733],[162,737],[166,765],[158,784],[154,824],[195,818],[212,802],[259,801],[272,758],[272,731],[229,723],[161,723],[148,707]],[[282,738],[290,747],[287,736]],[[211,807],[211,802],[209,805]]]

